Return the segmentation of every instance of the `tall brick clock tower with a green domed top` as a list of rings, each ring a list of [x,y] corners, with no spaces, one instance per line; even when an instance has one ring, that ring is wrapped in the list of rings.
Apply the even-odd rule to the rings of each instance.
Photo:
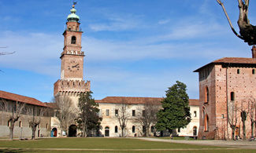
[[[83,80],[83,57],[81,51],[80,17],[76,15],[75,5],[72,5],[67,17],[64,35],[64,48],[61,53],[61,79],[54,83],[54,96],[70,97],[77,106],[80,93],[90,91],[91,82]]]

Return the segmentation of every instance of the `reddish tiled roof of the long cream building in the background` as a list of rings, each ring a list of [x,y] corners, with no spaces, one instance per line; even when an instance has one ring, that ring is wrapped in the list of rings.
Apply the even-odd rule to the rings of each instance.
[[[95,102],[99,104],[161,104],[161,100],[163,98],[159,97],[106,97],[102,100],[95,100]],[[189,104],[198,106],[199,100],[190,99]]]

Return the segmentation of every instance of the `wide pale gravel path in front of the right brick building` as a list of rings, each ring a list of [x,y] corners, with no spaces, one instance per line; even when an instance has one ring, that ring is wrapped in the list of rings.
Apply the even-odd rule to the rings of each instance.
[[[137,139],[150,140],[150,141],[161,141],[161,142],[172,142],[180,144],[198,144],[198,145],[212,145],[219,147],[230,147],[230,148],[247,148],[256,149],[256,141],[247,140],[167,140],[158,138],[139,137]]]

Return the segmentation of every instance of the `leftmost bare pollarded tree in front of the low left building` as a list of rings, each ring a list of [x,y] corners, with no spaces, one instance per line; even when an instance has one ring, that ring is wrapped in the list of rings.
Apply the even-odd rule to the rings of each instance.
[[[6,112],[7,114],[7,119],[9,122],[9,139],[13,140],[13,129],[14,129],[14,124],[15,122],[17,122],[20,118],[20,116],[22,115],[22,111],[24,109],[25,104],[24,103],[20,103],[18,101],[6,101],[6,100],[2,100],[1,101],[1,107],[0,107],[0,111],[2,111],[2,113]]]

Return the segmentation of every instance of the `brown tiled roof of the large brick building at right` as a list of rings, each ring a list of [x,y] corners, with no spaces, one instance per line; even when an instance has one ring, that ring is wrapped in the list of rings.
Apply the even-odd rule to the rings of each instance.
[[[213,62],[206,64],[202,67],[209,66],[210,64],[255,64],[256,58],[243,58],[243,57],[224,57]],[[198,72],[202,67],[198,68],[194,72]]]

